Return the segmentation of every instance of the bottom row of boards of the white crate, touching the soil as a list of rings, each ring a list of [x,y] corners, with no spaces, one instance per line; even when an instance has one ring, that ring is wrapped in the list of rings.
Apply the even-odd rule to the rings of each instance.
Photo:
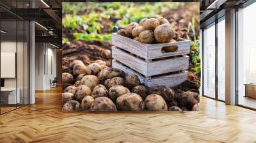
[[[116,61],[115,59],[112,60],[112,67],[123,70],[128,75],[129,74],[138,75],[140,82],[145,84],[148,87],[152,87],[152,86],[175,87],[181,84],[182,82],[184,82],[188,77],[188,72],[186,71],[168,73],[168,74],[157,75],[152,77],[145,77],[140,73],[132,70],[128,66],[125,66],[124,64]]]

